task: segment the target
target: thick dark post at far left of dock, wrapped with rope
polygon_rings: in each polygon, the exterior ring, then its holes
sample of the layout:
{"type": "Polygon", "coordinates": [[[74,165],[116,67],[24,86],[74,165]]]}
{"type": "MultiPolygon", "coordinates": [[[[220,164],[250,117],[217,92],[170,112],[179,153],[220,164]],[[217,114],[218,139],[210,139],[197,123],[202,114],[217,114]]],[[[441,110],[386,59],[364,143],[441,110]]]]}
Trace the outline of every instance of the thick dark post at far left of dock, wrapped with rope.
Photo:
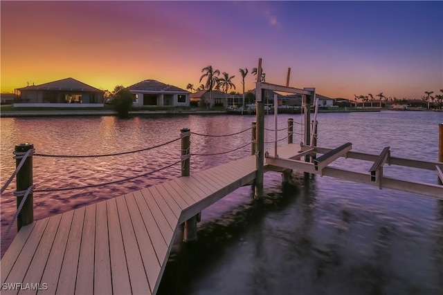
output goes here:
{"type": "MultiPolygon", "coordinates": [[[[15,153],[26,153],[28,150],[34,149],[33,144],[19,144],[15,146],[15,153]]],[[[23,156],[16,156],[15,158],[15,166],[19,166],[21,159],[23,156]]],[[[17,173],[16,177],[17,183],[17,191],[26,191],[31,185],[33,185],[33,156],[29,155],[26,158],[23,166],[17,173]]],[[[24,196],[17,196],[17,208],[23,200],[24,196]]],[[[28,198],[24,202],[23,207],[17,216],[17,231],[24,227],[25,225],[29,225],[34,222],[34,200],[33,200],[33,192],[31,191],[28,194],[28,198]]]]}

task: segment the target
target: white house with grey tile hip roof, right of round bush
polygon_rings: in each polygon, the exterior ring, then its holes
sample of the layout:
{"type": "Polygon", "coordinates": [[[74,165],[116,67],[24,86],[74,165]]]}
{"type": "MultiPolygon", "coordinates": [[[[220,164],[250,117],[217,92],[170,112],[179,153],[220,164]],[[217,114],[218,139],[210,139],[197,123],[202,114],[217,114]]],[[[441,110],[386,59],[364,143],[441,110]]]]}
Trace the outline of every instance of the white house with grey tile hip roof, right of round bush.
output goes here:
{"type": "Polygon", "coordinates": [[[189,106],[189,91],[156,80],[138,82],[126,89],[134,93],[134,106],[189,106]]]}

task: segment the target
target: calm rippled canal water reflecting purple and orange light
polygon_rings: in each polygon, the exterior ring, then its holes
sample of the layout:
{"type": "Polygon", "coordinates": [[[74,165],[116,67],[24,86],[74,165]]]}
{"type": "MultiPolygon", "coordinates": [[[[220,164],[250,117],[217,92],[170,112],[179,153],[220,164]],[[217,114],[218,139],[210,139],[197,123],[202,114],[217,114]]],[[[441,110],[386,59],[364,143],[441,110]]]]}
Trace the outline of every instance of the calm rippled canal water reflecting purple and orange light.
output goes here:
{"type": "MultiPolygon", "coordinates": [[[[287,118],[280,115],[279,128],[287,118]]],[[[100,154],[132,151],[179,137],[183,127],[226,134],[251,126],[249,116],[1,118],[1,184],[15,169],[14,145],[30,142],[37,153],[100,154]]],[[[319,146],[352,142],[354,151],[437,159],[437,112],[320,113],[319,146]]],[[[273,128],[273,117],[266,119],[273,128]]],[[[300,126],[296,126],[300,132],[300,126]]],[[[267,141],[271,141],[271,132],[267,141]]],[[[228,151],[246,144],[247,131],[233,137],[192,135],[192,153],[228,151]]],[[[284,131],[279,138],[284,137],[284,131]]],[[[294,142],[300,141],[299,135],[294,142]]],[[[285,141],[285,140],[284,140],[285,141]]],[[[283,142],[284,142],[283,141],[283,142]]],[[[271,149],[271,144],[268,148],[271,149]]],[[[78,187],[140,175],[179,160],[179,141],[161,149],[118,157],[34,157],[37,189],[78,187]]],[[[249,147],[211,157],[195,156],[200,171],[250,153],[249,147]]],[[[367,171],[371,163],[337,160],[334,166],[367,171]]],[[[97,189],[35,193],[35,218],[179,176],[175,165],[145,178],[97,189]]],[[[435,183],[433,171],[388,166],[385,175],[435,183]]],[[[280,173],[266,173],[265,194],[252,200],[242,187],[202,213],[199,241],[174,245],[159,294],[443,294],[443,204],[411,193],[379,190],[293,173],[282,187],[280,173]]],[[[15,212],[12,191],[1,196],[1,230],[15,212]]],[[[14,236],[1,245],[2,254],[14,236]]]]}

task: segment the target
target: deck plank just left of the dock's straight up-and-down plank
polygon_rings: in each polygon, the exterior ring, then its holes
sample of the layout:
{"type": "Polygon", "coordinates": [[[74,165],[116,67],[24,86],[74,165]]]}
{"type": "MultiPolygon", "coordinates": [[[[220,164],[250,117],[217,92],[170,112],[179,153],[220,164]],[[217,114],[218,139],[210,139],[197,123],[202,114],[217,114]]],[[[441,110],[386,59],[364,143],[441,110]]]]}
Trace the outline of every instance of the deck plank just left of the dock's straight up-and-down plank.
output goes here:
{"type": "Polygon", "coordinates": [[[75,294],[93,294],[94,292],[94,259],[96,242],[96,204],[86,207],[78,259],[75,294]]]}

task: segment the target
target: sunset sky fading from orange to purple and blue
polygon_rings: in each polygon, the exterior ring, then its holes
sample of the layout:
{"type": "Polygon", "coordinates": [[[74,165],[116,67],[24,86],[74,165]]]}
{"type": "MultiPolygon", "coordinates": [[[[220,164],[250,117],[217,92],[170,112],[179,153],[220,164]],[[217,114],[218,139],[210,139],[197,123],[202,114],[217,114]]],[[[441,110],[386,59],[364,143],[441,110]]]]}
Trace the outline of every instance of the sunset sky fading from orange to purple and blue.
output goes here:
{"type": "MultiPolygon", "coordinates": [[[[329,97],[443,88],[443,1],[1,1],[1,92],[73,77],[197,88],[263,59],[266,82],[329,97]]],[[[246,77],[246,90],[255,88],[246,77]]]]}

